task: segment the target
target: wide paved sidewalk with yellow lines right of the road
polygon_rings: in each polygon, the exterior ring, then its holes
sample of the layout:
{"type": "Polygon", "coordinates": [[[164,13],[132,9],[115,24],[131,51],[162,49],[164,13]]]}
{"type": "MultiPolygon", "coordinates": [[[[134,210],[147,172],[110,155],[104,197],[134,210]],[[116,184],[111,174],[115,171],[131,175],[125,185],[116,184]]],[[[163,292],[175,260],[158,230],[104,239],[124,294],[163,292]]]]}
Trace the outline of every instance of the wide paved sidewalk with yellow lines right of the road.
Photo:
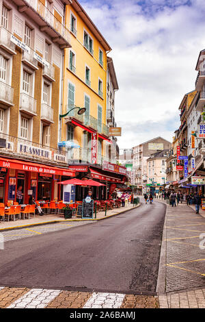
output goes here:
{"type": "Polygon", "coordinates": [[[167,205],[156,289],[160,308],[205,308],[204,262],[204,212],[196,214],[186,203],[167,205]]]}

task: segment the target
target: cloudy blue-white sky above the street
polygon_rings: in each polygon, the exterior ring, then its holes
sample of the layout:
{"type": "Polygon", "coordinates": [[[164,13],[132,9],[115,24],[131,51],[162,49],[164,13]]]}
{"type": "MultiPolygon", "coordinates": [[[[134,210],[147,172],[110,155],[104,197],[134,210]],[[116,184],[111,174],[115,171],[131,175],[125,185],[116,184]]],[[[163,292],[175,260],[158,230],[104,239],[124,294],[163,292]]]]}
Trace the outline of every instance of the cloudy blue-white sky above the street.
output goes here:
{"type": "Polygon", "coordinates": [[[80,0],[112,48],[120,90],[115,119],[120,149],[156,136],[172,142],[178,107],[195,89],[205,48],[204,0],[80,0]]]}

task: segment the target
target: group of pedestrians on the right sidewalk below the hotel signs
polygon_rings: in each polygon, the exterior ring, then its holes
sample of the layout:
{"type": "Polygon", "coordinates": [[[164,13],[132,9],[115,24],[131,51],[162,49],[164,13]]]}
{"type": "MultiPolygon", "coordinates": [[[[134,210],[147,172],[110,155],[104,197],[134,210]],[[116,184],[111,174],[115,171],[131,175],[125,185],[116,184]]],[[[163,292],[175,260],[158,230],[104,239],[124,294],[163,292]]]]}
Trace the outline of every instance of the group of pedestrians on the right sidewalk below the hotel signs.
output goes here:
{"type": "Polygon", "coordinates": [[[187,195],[182,195],[181,193],[176,193],[174,190],[172,190],[172,193],[169,195],[169,201],[172,207],[176,207],[176,202],[177,204],[182,203],[183,200],[187,201],[187,206],[188,205],[195,205],[195,211],[198,214],[200,211],[200,205],[202,203],[202,197],[198,193],[188,193],[187,195]]]}

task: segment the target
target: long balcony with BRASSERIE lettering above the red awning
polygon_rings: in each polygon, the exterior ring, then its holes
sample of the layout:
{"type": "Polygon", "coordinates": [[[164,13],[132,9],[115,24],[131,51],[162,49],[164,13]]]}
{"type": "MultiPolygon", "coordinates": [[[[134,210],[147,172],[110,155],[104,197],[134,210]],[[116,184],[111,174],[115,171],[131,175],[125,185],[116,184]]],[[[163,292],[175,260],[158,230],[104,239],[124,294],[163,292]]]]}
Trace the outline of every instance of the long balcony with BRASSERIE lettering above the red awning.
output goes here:
{"type": "Polygon", "coordinates": [[[5,155],[7,158],[11,156],[37,162],[44,161],[46,164],[67,164],[66,151],[3,133],[0,133],[1,138],[6,141],[6,147],[1,148],[1,155],[5,155]]]}

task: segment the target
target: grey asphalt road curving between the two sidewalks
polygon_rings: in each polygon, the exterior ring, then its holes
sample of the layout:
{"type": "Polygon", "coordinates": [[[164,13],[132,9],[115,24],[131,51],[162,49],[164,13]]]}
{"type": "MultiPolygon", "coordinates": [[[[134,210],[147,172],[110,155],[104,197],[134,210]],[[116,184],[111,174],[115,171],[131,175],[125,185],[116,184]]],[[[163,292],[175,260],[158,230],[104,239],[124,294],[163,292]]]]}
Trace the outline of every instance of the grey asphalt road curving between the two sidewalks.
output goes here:
{"type": "Polygon", "coordinates": [[[0,286],[156,291],[165,205],[144,203],[110,219],[5,243],[0,286]]]}

